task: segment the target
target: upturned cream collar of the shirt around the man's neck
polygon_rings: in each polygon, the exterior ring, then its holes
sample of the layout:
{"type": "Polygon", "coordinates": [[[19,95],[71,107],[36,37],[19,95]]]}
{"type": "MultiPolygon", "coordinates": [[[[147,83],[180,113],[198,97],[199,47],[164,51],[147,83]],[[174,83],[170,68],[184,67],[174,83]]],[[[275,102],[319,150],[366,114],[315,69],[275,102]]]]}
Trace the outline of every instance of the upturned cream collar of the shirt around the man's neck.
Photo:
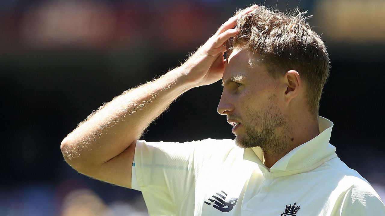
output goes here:
{"type": "Polygon", "coordinates": [[[323,162],[337,157],[335,147],[329,144],[333,122],[318,116],[320,134],[297,146],[278,160],[270,169],[264,164],[263,152],[259,147],[246,148],[243,159],[257,163],[261,171],[270,173],[295,174],[320,166],[323,162]]]}

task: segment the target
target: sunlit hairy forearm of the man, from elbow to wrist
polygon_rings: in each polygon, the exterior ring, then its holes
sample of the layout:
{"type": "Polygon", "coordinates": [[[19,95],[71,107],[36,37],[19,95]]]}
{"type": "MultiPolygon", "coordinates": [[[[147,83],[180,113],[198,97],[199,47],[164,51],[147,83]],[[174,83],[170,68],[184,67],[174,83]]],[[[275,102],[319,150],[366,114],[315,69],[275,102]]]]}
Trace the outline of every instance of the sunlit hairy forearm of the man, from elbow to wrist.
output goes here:
{"type": "Polygon", "coordinates": [[[104,163],[126,150],[173,100],[193,87],[181,70],[124,92],[80,123],[61,144],[67,163],[104,163]]]}

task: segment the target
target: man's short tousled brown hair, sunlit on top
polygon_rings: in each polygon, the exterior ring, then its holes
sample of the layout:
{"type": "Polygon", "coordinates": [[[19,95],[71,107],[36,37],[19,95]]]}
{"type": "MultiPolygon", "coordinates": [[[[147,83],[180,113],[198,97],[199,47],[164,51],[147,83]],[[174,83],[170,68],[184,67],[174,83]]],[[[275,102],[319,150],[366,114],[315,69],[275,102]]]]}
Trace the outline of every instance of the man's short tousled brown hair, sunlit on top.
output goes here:
{"type": "Polygon", "coordinates": [[[227,45],[229,49],[241,46],[259,55],[274,78],[296,70],[304,80],[310,111],[318,114],[330,61],[320,36],[305,22],[309,18],[304,17],[305,13],[297,9],[296,15],[287,15],[258,7],[239,18],[239,34],[227,45]]]}

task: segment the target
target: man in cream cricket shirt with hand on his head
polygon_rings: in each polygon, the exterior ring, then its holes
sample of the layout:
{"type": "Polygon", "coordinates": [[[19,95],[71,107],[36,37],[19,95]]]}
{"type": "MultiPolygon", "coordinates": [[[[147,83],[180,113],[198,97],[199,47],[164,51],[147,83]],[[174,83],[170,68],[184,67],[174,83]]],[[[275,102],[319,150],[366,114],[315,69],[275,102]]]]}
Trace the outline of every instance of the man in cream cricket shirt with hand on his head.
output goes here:
{"type": "Polygon", "coordinates": [[[333,123],[318,116],[328,73],[328,53],[303,13],[254,5],[182,66],[100,107],[61,149],[80,173],[141,190],[150,215],[385,215],[328,143],[333,123]],[[221,78],[218,113],[234,140],[139,141],[179,95],[221,78]]]}

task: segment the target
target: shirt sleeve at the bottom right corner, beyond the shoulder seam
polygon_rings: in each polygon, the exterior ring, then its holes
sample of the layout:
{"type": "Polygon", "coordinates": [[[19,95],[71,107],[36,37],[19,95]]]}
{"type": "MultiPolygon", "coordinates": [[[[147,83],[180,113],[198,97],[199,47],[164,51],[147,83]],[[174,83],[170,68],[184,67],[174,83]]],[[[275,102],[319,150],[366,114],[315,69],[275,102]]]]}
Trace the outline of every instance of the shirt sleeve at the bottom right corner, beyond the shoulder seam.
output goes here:
{"type": "Polygon", "coordinates": [[[352,186],[343,199],[340,216],[385,215],[385,206],[370,184],[352,186]]]}

